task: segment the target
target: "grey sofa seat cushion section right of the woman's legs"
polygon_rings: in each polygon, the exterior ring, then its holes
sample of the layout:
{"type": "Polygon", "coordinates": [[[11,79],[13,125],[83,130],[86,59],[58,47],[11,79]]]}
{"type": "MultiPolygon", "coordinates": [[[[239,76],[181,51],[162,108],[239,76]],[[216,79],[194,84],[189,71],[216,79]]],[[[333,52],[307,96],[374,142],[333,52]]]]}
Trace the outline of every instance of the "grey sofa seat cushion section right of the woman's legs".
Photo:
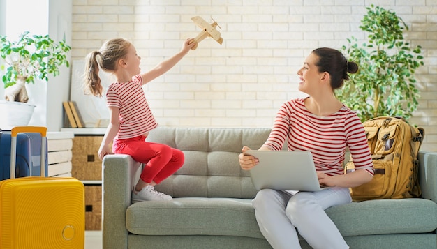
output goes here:
{"type": "Polygon", "coordinates": [[[326,210],[343,236],[408,234],[437,229],[437,204],[429,199],[376,199],[326,210]]]}

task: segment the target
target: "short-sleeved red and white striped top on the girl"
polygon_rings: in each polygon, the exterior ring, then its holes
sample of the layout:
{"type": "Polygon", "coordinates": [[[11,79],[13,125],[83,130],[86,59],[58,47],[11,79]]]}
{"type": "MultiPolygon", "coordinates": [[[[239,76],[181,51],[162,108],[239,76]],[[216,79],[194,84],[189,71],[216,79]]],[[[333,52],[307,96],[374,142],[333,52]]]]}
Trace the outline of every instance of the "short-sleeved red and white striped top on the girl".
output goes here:
{"type": "Polygon", "coordinates": [[[106,104],[119,108],[120,128],[116,139],[137,137],[158,126],[141,86],[142,76],[136,75],[130,82],[116,82],[108,87],[106,104]]]}

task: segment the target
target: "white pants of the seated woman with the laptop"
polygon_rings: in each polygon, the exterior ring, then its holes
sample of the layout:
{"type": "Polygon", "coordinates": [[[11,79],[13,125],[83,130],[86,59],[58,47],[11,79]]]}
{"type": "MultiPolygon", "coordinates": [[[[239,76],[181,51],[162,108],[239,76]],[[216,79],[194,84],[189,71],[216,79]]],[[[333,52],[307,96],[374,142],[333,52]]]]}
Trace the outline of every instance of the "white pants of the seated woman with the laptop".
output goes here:
{"type": "Polygon", "coordinates": [[[252,204],[262,235],[274,249],[301,248],[296,229],[312,248],[341,249],[349,246],[325,209],[351,201],[348,188],[333,187],[295,195],[264,189],[252,204]]]}

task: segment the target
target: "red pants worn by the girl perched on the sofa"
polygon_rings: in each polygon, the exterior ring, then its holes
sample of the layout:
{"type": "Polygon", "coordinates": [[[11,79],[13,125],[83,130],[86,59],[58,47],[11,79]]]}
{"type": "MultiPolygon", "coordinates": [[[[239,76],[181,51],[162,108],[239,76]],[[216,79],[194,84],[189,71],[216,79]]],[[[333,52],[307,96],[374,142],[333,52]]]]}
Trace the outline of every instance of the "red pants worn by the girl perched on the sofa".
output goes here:
{"type": "Polygon", "coordinates": [[[161,183],[184,164],[184,153],[165,144],[145,141],[145,136],[129,139],[114,139],[112,151],[130,155],[133,160],[144,163],[140,178],[146,183],[161,183]]]}

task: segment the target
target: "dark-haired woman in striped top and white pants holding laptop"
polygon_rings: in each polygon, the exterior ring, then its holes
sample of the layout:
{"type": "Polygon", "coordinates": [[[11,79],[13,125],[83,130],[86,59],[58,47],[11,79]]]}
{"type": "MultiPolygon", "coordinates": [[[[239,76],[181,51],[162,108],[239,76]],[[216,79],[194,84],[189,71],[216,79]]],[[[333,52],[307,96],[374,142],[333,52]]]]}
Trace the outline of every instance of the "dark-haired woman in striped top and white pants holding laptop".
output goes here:
{"type": "MultiPolygon", "coordinates": [[[[311,151],[322,186],[318,192],[260,190],[253,207],[262,234],[273,248],[301,248],[297,231],[312,248],[348,248],[339,229],[327,216],[330,206],[351,202],[349,187],[371,181],[373,163],[357,114],[335,97],[348,73],[358,66],[338,50],[313,50],[297,72],[299,91],[309,97],[286,102],[279,110],[269,138],[260,150],[279,151],[287,141],[289,150],[311,151]],[[343,174],[346,147],[355,172],[343,174]]],[[[244,146],[242,151],[249,148],[244,146]]],[[[257,158],[239,155],[239,165],[249,170],[257,158]]]]}

